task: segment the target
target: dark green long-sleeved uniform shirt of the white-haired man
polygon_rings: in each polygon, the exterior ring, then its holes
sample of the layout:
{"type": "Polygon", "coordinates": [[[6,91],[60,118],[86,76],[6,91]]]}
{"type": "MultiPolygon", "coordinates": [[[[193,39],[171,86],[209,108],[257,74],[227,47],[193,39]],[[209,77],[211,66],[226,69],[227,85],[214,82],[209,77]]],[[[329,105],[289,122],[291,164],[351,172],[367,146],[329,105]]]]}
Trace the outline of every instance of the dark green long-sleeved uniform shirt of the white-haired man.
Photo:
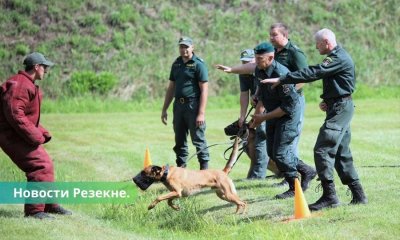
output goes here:
{"type": "Polygon", "coordinates": [[[282,84],[313,82],[322,78],[321,98],[330,99],[349,95],[355,89],[355,67],[350,55],[336,46],[321,64],[288,73],[279,78],[282,84]]]}

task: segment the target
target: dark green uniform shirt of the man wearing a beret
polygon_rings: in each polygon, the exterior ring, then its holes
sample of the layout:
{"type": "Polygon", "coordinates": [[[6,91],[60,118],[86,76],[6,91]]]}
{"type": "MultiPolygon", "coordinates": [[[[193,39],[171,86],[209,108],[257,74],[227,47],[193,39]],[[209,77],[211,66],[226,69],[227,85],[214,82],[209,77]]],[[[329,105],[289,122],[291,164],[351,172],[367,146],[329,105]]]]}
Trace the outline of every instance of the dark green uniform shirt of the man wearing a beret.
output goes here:
{"type": "MultiPolygon", "coordinates": [[[[273,61],[271,66],[266,70],[256,67],[255,76],[259,81],[266,78],[276,78],[287,74],[289,70],[278,63],[273,61]]],[[[272,84],[259,84],[259,99],[262,101],[267,112],[273,111],[280,107],[288,116],[292,116],[293,111],[299,102],[299,95],[293,84],[279,85],[272,89],[272,84]]]]}

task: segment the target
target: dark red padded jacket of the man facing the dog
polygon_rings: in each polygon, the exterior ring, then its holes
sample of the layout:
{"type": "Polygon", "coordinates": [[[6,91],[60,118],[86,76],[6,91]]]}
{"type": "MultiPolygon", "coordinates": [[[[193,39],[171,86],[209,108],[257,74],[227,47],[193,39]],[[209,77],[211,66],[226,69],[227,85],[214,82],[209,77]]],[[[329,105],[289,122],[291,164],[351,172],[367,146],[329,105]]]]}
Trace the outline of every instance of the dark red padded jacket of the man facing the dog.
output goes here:
{"type": "Polygon", "coordinates": [[[42,92],[26,72],[9,78],[0,92],[0,130],[9,142],[22,138],[37,146],[49,140],[49,132],[39,124],[42,92]]]}

